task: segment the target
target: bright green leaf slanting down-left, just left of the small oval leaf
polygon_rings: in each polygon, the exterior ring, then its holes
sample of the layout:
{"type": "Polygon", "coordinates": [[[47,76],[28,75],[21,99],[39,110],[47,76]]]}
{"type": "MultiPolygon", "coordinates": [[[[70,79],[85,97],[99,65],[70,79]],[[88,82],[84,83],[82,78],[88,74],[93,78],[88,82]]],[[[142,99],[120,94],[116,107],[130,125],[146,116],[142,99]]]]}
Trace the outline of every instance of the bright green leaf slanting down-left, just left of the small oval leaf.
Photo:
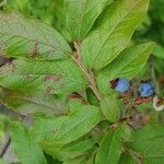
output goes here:
{"type": "Polygon", "coordinates": [[[101,120],[103,116],[98,107],[83,106],[71,113],[63,121],[54,137],[54,143],[69,143],[86,134],[101,120]]]}

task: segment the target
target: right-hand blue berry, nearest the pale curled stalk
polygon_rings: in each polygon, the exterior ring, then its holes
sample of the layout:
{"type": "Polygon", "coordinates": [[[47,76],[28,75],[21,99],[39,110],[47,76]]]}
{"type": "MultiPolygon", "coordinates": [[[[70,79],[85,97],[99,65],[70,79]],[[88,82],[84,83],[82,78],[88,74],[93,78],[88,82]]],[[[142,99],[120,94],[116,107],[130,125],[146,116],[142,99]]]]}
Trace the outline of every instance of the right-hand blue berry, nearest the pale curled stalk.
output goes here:
{"type": "Polygon", "coordinates": [[[139,92],[140,97],[150,97],[154,94],[154,86],[150,82],[141,82],[139,92]]]}

